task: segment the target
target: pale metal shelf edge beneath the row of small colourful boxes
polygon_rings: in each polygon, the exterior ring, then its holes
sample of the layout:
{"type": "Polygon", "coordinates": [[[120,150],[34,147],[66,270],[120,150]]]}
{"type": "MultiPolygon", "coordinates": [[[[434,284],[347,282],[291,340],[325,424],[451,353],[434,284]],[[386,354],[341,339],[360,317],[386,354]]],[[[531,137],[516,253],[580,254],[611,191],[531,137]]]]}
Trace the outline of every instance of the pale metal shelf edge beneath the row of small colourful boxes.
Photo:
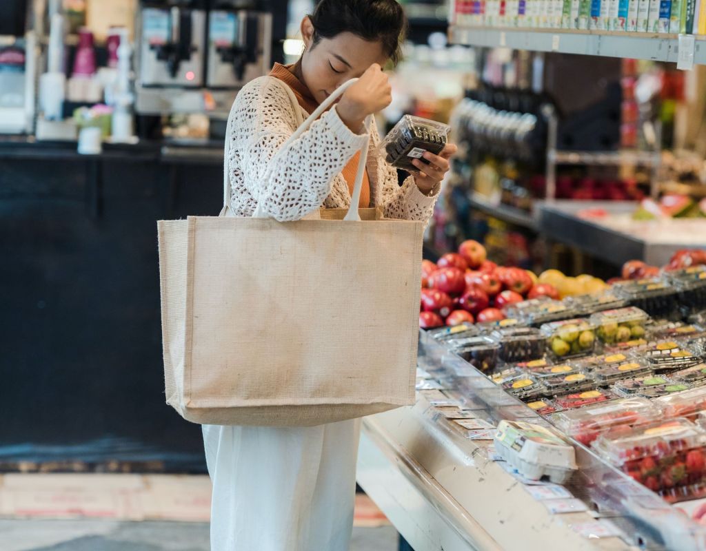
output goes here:
{"type": "MultiPolygon", "coordinates": [[[[465,28],[452,25],[450,42],[467,46],[558,52],[588,56],[678,60],[678,36],[647,32],[596,32],[566,29],[465,28]]],[[[706,37],[696,37],[694,63],[706,63],[706,37]]]]}

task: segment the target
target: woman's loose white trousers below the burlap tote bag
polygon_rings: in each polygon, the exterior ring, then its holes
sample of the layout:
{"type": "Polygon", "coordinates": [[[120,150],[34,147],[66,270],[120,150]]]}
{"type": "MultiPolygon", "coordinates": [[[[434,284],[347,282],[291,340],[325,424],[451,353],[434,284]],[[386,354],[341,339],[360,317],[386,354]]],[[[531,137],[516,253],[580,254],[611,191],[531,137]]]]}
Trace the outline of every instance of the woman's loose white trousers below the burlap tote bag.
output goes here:
{"type": "Polygon", "coordinates": [[[347,551],[359,437],[359,420],[203,425],[211,551],[347,551]]]}

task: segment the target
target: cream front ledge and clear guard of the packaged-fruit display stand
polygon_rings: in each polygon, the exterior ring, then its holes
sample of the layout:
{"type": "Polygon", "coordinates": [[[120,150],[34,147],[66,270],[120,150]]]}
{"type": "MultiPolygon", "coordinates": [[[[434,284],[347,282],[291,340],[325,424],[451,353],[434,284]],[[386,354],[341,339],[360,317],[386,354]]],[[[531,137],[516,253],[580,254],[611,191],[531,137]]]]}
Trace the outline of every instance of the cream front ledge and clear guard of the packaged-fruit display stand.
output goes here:
{"type": "MultiPolygon", "coordinates": [[[[425,332],[419,351],[421,369],[459,389],[491,423],[546,424],[425,332]]],[[[587,507],[553,514],[551,503],[576,500],[537,497],[550,487],[515,478],[496,461],[493,442],[457,430],[430,392],[364,418],[358,458],[359,485],[416,551],[706,549],[706,528],[580,445],[566,490],[587,507]]]]}

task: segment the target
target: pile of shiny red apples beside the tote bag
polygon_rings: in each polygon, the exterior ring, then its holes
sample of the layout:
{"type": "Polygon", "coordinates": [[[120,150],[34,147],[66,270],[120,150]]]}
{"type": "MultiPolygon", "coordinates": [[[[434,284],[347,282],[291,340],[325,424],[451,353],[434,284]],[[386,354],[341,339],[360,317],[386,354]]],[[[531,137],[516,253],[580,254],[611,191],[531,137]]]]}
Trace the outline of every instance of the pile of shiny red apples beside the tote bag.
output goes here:
{"type": "Polygon", "coordinates": [[[538,296],[558,299],[559,292],[528,270],[487,260],[481,243],[464,241],[436,264],[422,261],[419,327],[503,320],[503,308],[538,296]]]}

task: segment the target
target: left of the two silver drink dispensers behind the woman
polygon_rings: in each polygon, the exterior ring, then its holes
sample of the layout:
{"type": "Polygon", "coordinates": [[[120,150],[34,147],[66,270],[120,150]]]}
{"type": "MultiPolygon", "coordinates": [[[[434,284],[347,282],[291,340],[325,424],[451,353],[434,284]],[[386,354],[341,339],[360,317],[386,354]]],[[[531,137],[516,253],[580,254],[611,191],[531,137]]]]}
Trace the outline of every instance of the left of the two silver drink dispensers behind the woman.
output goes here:
{"type": "Polygon", "coordinates": [[[204,110],[205,0],[145,0],[136,20],[136,111],[204,110]]]}

